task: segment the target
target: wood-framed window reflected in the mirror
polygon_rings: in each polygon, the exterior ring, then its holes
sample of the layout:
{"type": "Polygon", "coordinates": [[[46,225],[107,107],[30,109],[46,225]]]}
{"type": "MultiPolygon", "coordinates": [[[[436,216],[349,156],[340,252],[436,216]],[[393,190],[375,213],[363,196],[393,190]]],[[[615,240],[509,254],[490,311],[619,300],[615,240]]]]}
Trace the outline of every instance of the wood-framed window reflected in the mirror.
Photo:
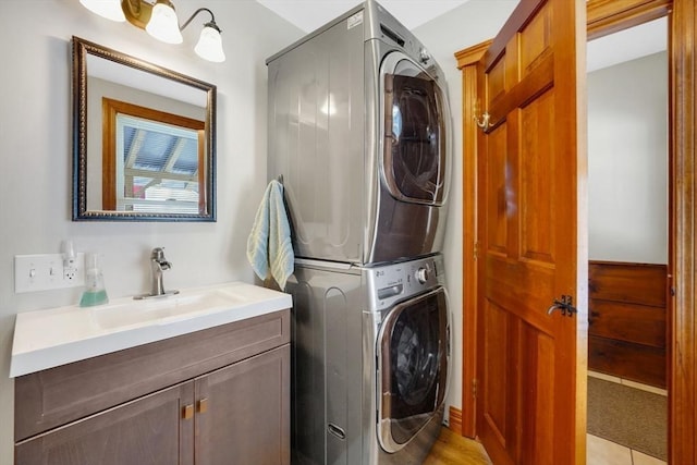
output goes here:
{"type": "Polygon", "coordinates": [[[203,213],[205,121],[109,98],[102,110],[102,208],[203,213]]]}

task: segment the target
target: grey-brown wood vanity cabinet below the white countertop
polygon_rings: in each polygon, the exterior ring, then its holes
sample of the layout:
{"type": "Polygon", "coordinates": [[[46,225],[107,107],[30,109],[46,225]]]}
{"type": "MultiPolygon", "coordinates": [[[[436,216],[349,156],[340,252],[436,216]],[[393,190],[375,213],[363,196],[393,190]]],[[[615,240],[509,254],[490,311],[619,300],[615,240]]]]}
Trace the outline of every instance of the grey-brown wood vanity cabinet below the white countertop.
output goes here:
{"type": "Polygon", "coordinates": [[[290,464],[289,330],[284,310],[20,377],[15,463],[290,464]]]}

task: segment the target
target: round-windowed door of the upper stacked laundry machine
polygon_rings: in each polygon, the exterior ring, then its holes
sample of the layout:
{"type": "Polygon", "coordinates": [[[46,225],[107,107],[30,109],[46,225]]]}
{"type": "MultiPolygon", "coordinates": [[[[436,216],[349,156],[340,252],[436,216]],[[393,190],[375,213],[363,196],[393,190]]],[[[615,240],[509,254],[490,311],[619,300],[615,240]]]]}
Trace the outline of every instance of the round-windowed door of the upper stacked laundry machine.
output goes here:
{"type": "Polygon", "coordinates": [[[448,173],[447,100],[439,84],[406,54],[382,61],[382,175],[399,200],[440,206],[448,173]]]}

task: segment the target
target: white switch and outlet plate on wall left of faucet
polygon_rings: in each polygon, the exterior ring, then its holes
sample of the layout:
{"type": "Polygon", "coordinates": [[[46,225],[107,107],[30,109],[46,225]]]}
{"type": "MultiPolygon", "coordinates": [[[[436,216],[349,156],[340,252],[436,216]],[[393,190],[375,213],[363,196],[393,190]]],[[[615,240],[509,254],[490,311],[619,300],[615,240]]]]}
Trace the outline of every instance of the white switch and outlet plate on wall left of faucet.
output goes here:
{"type": "Polygon", "coordinates": [[[85,285],[85,254],[75,254],[74,272],[63,272],[63,254],[14,256],[14,292],[50,291],[85,285]]]}

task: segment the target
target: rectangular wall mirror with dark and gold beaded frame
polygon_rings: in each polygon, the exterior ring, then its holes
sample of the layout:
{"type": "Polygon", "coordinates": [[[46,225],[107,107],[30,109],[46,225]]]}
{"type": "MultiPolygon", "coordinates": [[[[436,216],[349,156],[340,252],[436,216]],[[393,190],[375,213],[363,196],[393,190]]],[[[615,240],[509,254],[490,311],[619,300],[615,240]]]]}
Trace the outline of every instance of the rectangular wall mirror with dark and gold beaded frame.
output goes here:
{"type": "Polygon", "coordinates": [[[72,40],[73,221],[216,221],[216,86],[72,40]]]}

